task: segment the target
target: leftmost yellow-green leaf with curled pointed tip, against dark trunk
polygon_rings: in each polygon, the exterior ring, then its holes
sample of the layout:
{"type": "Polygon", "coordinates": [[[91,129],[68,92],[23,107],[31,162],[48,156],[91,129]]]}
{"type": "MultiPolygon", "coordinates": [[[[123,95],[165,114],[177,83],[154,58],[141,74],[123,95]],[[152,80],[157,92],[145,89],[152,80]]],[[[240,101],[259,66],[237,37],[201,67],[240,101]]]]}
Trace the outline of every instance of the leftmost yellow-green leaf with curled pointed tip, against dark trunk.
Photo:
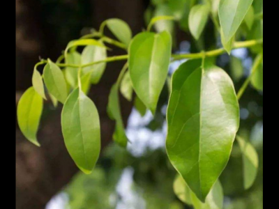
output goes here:
{"type": "Polygon", "coordinates": [[[43,98],[33,87],[28,88],[17,105],[17,122],[24,137],[36,146],[40,146],[36,135],[42,111],[43,98]]]}

